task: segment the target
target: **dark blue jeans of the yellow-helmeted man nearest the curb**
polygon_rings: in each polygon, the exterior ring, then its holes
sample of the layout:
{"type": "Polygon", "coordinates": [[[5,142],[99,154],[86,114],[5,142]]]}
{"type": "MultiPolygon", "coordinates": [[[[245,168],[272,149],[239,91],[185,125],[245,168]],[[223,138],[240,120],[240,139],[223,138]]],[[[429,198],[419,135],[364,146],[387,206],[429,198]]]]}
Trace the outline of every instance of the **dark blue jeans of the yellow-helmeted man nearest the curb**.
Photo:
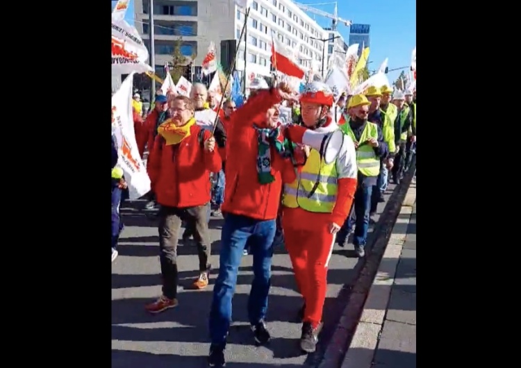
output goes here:
{"type": "Polygon", "coordinates": [[[363,183],[356,188],[349,216],[338,232],[338,244],[343,243],[354,225],[353,244],[355,246],[365,246],[367,242],[367,231],[369,230],[372,188],[372,185],[367,186],[363,183]]]}

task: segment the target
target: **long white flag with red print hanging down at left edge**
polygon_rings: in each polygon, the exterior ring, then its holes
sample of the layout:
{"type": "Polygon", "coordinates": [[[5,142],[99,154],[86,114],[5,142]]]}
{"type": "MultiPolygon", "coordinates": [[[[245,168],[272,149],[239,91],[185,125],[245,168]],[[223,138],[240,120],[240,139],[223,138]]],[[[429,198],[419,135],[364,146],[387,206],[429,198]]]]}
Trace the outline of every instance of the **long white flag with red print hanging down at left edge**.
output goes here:
{"type": "Polygon", "coordinates": [[[131,72],[112,97],[112,124],[118,151],[117,166],[123,169],[131,200],[138,199],[150,191],[150,178],[135,142],[132,116],[133,78],[134,73],[131,72]]]}

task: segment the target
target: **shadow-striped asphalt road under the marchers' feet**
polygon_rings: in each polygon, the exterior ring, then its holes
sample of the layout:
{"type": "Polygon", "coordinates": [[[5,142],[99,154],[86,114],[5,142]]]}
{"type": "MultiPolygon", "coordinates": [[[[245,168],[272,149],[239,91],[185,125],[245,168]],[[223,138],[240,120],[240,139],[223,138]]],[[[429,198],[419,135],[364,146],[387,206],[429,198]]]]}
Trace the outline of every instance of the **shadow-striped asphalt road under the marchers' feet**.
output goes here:
{"type": "MultiPolygon", "coordinates": [[[[394,187],[390,185],[386,199],[394,187]]],[[[159,296],[161,288],[156,218],[138,210],[143,204],[136,201],[124,206],[126,228],[119,243],[119,257],[112,265],[112,367],[206,367],[211,283],[217,271],[210,275],[210,286],[206,290],[180,292],[177,308],[159,315],[145,312],[144,304],[159,296]]],[[[380,203],[379,213],[385,205],[380,203]]],[[[221,226],[222,219],[210,221],[213,240],[211,263],[215,269],[218,267],[221,226]]],[[[188,286],[198,274],[195,246],[183,245],[180,241],[178,255],[181,283],[188,286]]],[[[267,316],[272,342],[267,347],[254,346],[247,323],[247,296],[253,273],[252,257],[244,256],[233,299],[233,326],[226,349],[227,367],[296,368],[304,364],[316,367],[345,307],[348,285],[353,281],[358,262],[361,261],[355,258],[352,244],[345,249],[335,246],[329,265],[329,287],[319,349],[315,354],[304,356],[297,344],[301,325],[295,323],[301,297],[295,292],[288,254],[284,249],[277,249],[273,259],[267,316]]]]}

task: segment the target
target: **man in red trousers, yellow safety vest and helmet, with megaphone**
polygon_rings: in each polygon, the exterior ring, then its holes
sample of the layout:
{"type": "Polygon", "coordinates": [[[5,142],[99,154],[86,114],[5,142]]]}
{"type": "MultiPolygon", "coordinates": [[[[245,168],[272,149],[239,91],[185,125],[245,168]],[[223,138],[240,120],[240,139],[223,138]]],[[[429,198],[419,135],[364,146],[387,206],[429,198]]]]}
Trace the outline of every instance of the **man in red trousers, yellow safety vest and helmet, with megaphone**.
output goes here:
{"type": "MultiPolygon", "coordinates": [[[[292,142],[309,144],[307,159],[295,181],[284,185],[282,226],[286,249],[304,298],[300,310],[303,321],[300,349],[313,353],[322,328],[322,309],[326,299],[327,267],[336,233],[352,206],[356,190],[356,153],[353,141],[343,139],[338,156],[326,162],[327,133],[338,131],[329,115],[333,93],[322,82],[311,82],[300,96],[303,126],[289,126],[292,142]]],[[[342,137],[342,134],[338,132],[342,137]]]]}

